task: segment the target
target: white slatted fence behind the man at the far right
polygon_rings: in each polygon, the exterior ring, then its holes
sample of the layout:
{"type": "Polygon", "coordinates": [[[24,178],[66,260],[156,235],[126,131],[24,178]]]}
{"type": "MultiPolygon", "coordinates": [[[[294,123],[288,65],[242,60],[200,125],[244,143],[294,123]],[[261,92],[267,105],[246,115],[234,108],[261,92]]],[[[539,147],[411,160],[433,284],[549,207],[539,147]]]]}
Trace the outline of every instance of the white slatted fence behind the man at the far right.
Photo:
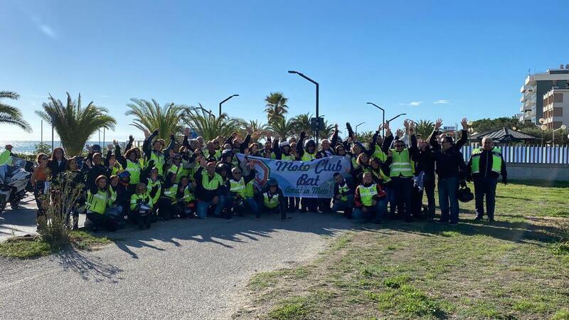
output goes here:
{"type": "MultiPolygon", "coordinates": [[[[569,146],[499,146],[504,161],[513,164],[569,164],[569,146]]],[[[463,146],[464,161],[469,161],[472,146],[463,146]]]]}

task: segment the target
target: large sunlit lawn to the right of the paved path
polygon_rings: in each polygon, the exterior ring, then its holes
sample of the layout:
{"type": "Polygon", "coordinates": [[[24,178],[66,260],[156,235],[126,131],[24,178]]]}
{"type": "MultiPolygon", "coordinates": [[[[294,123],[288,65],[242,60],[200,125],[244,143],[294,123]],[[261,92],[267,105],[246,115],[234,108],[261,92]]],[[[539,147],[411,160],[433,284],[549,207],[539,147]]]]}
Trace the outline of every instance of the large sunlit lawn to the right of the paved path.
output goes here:
{"type": "Polygon", "coordinates": [[[569,188],[499,186],[496,223],[361,225],[255,275],[235,319],[569,319],[569,188]]]}

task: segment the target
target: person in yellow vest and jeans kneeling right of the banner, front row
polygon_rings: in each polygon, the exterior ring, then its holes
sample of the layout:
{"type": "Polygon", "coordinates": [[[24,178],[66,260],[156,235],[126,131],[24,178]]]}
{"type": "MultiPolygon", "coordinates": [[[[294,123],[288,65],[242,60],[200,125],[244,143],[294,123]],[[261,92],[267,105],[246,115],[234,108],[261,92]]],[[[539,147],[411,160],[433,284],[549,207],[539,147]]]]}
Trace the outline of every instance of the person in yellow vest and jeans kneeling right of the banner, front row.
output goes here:
{"type": "Polygon", "coordinates": [[[363,174],[363,184],[356,188],[353,201],[356,203],[356,213],[363,213],[366,220],[381,223],[387,211],[386,193],[378,183],[373,183],[370,172],[363,174]]]}

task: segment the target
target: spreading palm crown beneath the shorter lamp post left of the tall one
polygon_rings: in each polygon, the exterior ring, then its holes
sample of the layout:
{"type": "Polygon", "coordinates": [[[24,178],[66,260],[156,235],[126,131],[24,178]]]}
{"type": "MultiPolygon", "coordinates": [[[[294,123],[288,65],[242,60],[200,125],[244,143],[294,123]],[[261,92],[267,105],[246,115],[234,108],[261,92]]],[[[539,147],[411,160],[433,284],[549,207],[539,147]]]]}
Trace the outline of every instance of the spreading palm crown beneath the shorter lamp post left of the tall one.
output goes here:
{"type": "Polygon", "coordinates": [[[238,132],[244,125],[243,120],[230,118],[226,113],[216,117],[201,105],[188,107],[183,121],[206,141],[216,139],[218,136],[229,137],[231,133],[238,132]]]}

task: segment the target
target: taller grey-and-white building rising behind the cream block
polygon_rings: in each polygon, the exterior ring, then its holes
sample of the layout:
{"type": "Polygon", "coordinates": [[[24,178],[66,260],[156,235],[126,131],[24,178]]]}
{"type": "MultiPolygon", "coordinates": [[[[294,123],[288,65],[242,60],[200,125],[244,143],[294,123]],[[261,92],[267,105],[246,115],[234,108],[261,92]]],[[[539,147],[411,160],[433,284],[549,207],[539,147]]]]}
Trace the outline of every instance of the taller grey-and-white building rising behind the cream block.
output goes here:
{"type": "Polygon", "coordinates": [[[565,89],[569,82],[569,65],[559,66],[559,69],[549,69],[545,73],[528,75],[521,86],[522,97],[519,115],[520,122],[539,124],[543,117],[543,96],[553,87],[565,89]]]}

